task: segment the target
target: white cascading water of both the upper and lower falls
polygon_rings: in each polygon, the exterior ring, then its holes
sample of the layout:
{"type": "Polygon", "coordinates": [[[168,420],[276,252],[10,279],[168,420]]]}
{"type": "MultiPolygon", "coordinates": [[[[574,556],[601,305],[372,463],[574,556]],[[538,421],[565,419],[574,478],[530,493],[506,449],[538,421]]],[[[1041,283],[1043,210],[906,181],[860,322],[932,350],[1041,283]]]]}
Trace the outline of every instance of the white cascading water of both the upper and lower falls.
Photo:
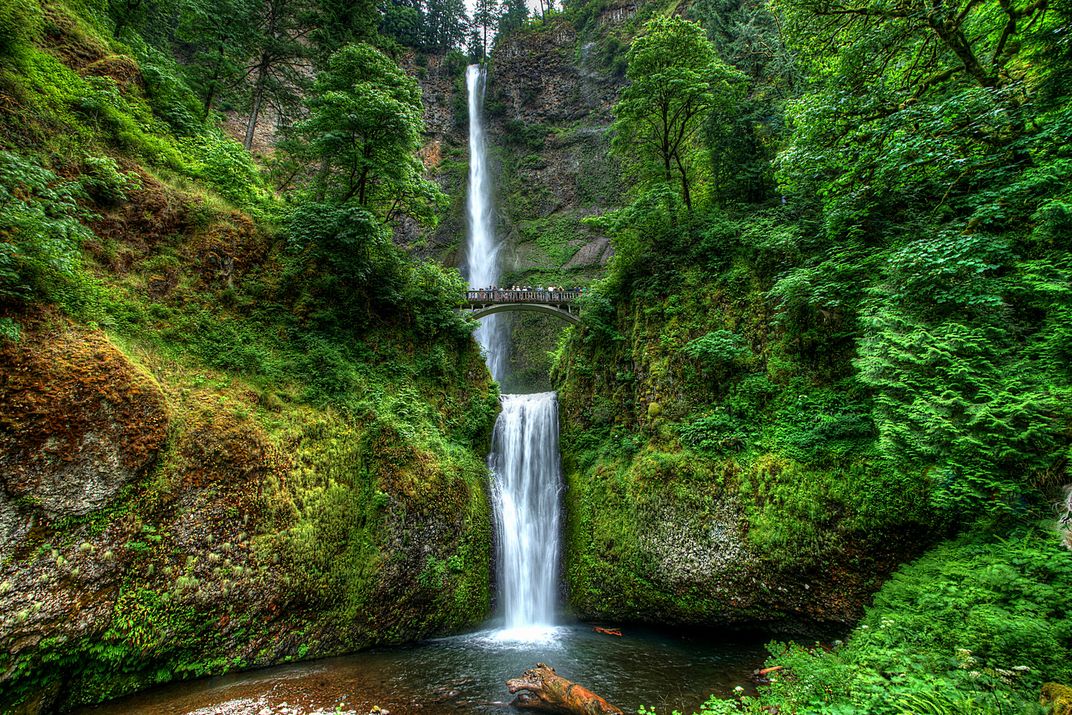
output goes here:
{"type": "MultiPolygon", "coordinates": [[[[498,282],[498,249],[483,136],[485,72],[465,72],[470,111],[468,283],[498,282]]],[[[500,383],[507,341],[497,316],[483,318],[476,339],[500,383]]],[[[488,466],[495,510],[496,571],[504,628],[500,641],[541,640],[554,623],[559,568],[559,403],[554,392],[504,394],[488,466]]]]}

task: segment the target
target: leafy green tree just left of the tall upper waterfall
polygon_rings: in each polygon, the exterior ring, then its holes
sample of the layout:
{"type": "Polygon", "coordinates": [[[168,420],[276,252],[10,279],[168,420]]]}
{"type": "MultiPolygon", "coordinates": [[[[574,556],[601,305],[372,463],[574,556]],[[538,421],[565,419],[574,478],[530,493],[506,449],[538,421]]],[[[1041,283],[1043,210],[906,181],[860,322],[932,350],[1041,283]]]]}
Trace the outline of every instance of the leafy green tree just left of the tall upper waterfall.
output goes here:
{"type": "Polygon", "coordinates": [[[432,218],[441,193],[421,178],[420,87],[386,55],[347,45],[331,56],[296,128],[302,151],[319,165],[322,199],[354,203],[388,219],[432,218]]]}

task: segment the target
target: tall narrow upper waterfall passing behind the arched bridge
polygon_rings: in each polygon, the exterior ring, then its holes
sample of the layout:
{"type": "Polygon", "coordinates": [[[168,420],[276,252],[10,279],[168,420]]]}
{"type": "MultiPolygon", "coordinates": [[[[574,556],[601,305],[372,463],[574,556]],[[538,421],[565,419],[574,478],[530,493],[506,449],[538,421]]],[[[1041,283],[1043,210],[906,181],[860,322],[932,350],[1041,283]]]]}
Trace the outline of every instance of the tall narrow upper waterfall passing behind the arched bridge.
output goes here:
{"type": "MultiPolygon", "coordinates": [[[[487,288],[498,283],[498,249],[491,215],[491,183],[488,176],[487,145],[483,138],[485,71],[479,64],[465,70],[470,113],[470,185],[468,212],[468,284],[471,288],[487,288]]],[[[497,315],[480,322],[476,341],[483,348],[491,376],[503,382],[506,366],[506,341],[497,315]]]]}

